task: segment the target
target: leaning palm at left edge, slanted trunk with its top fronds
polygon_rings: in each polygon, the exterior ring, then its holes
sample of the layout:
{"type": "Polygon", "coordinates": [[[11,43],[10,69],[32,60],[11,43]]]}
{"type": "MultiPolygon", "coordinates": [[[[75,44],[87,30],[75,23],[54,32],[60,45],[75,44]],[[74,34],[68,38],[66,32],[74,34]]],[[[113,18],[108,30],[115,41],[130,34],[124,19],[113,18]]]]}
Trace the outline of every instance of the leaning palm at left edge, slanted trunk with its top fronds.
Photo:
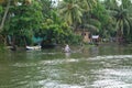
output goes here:
{"type": "Polygon", "coordinates": [[[6,23],[8,23],[9,18],[11,18],[11,15],[13,14],[13,12],[11,12],[11,8],[14,7],[16,8],[18,6],[21,4],[30,4],[31,0],[0,0],[0,4],[3,8],[3,13],[1,13],[1,19],[0,19],[0,40],[4,40],[3,42],[6,42],[6,37],[7,34],[4,34],[4,25],[6,23]]]}

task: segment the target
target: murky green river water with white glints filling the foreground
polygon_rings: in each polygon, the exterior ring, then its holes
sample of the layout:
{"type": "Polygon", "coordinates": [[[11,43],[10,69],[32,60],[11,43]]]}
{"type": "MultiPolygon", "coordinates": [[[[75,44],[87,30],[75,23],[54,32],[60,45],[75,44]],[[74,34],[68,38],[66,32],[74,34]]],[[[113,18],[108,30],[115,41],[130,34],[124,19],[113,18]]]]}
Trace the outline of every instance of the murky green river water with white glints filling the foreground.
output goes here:
{"type": "Polygon", "coordinates": [[[131,54],[118,45],[0,53],[0,88],[132,88],[131,54]]]}

